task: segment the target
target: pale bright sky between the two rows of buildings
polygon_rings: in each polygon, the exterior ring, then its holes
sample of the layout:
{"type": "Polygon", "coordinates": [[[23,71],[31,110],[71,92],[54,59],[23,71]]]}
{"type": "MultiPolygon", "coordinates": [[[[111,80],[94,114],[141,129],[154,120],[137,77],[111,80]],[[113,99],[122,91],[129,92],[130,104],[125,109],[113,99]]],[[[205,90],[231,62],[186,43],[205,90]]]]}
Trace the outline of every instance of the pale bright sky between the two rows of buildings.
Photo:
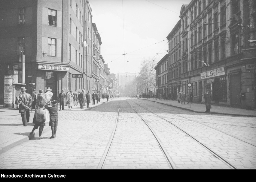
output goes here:
{"type": "Polygon", "coordinates": [[[166,37],[180,19],[181,6],[190,1],[89,0],[110,73],[138,75],[144,59],[159,62],[168,53],[166,37]]]}

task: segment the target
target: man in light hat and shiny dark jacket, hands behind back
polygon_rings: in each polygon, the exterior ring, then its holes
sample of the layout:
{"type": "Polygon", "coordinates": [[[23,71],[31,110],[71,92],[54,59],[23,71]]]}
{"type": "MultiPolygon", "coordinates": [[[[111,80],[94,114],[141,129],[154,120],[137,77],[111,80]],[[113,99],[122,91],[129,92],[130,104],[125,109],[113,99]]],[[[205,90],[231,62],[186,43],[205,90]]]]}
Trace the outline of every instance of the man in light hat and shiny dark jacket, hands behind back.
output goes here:
{"type": "Polygon", "coordinates": [[[19,113],[21,113],[23,126],[27,126],[29,123],[29,108],[32,105],[32,97],[30,94],[25,92],[25,87],[21,87],[20,91],[21,94],[19,95],[19,113]]]}

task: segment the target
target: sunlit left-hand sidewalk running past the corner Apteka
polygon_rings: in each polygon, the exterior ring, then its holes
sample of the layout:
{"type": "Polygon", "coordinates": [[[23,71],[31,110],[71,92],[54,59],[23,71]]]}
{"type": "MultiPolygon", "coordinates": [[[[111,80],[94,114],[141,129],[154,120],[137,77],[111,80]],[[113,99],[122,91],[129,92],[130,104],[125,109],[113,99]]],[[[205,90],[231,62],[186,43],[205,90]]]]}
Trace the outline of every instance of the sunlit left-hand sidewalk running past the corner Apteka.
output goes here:
{"type": "MultiPolygon", "coordinates": [[[[108,102],[111,100],[112,99],[108,99],[108,102]]],[[[68,110],[68,106],[64,106],[65,111],[58,111],[58,113],[90,110],[91,108],[97,107],[105,102],[107,102],[107,99],[100,99],[98,104],[95,102],[95,105],[92,105],[91,101],[89,108],[85,105],[84,109],[80,109],[80,105],[73,106],[71,110],[68,110]]],[[[16,109],[16,105],[15,108],[4,108],[3,105],[0,105],[0,155],[20,143],[39,137],[39,128],[34,131],[34,134],[29,135],[29,132],[31,132],[34,127],[34,124],[32,123],[34,113],[35,110],[32,110],[28,125],[23,126],[19,109],[16,109]]],[[[50,129],[49,123],[46,123],[44,126],[44,132],[50,129]]]]}

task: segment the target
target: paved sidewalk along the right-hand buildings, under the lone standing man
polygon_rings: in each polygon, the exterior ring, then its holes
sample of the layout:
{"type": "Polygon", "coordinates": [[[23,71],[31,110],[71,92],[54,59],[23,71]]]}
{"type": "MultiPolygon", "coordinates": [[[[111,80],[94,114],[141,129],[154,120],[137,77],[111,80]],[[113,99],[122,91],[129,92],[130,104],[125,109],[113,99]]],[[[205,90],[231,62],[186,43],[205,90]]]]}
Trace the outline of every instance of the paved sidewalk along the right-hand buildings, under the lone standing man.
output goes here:
{"type": "MultiPolygon", "coordinates": [[[[154,98],[138,98],[143,100],[150,100],[152,102],[162,103],[165,105],[171,105],[173,107],[181,108],[184,110],[190,110],[197,113],[205,113],[206,111],[205,104],[201,103],[193,103],[187,104],[185,102],[184,104],[178,103],[177,100],[155,100],[154,98]]],[[[241,109],[241,108],[232,108],[232,107],[225,107],[225,106],[219,106],[219,105],[212,105],[212,108],[210,110],[210,114],[225,114],[225,115],[231,115],[231,116],[246,116],[246,117],[256,117],[256,110],[247,110],[247,109],[241,109]]]]}

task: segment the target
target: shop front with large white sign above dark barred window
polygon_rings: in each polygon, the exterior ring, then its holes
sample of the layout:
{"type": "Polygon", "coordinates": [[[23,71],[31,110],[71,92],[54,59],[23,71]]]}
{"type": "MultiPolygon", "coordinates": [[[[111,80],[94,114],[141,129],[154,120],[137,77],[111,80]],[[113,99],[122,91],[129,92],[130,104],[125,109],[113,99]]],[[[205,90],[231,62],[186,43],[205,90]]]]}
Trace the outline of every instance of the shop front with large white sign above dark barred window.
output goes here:
{"type": "Polygon", "coordinates": [[[215,104],[227,104],[227,79],[224,67],[201,73],[201,79],[202,95],[209,90],[215,104]]]}

